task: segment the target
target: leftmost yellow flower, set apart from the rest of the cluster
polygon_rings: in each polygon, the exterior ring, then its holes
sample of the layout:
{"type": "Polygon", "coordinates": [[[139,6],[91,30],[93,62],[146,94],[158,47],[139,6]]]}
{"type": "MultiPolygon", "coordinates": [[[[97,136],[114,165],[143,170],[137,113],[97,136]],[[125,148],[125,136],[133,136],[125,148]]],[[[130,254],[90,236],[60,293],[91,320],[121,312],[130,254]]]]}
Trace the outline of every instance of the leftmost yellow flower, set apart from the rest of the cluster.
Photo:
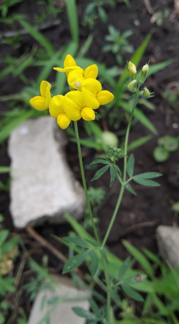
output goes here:
{"type": "Polygon", "coordinates": [[[49,108],[50,101],[52,99],[51,84],[47,81],[42,81],[40,86],[41,96],[36,96],[30,99],[30,104],[37,110],[46,110],[49,108]]]}

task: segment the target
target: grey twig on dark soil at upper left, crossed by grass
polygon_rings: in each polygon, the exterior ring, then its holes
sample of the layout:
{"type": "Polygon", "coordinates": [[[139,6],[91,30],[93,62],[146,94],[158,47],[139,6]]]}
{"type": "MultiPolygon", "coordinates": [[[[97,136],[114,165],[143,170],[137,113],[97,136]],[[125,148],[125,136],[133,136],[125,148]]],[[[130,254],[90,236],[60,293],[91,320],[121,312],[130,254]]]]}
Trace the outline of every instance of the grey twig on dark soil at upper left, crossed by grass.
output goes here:
{"type": "MultiPolygon", "coordinates": [[[[43,29],[48,29],[48,28],[54,27],[54,26],[58,26],[60,24],[61,24],[61,20],[60,19],[55,19],[53,21],[47,21],[47,22],[42,23],[39,26],[33,26],[33,27],[36,30],[43,30],[43,29]]],[[[0,39],[3,38],[3,37],[5,37],[5,38],[13,37],[16,34],[26,35],[26,34],[29,34],[29,32],[26,29],[8,30],[8,31],[5,31],[3,33],[0,33],[0,39]]]]}

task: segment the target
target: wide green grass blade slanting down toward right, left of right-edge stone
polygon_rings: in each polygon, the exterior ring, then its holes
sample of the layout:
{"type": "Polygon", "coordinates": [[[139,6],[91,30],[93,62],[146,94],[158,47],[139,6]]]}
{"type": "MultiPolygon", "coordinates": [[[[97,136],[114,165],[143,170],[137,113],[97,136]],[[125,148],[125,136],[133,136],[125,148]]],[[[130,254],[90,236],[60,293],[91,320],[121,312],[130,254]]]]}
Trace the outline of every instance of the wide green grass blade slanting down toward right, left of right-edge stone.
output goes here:
{"type": "Polygon", "coordinates": [[[141,267],[145,270],[145,272],[153,278],[154,271],[153,268],[149,262],[149,260],[139,251],[137,250],[133,245],[131,245],[129,242],[122,240],[122,243],[124,244],[127,251],[132,254],[132,256],[137,260],[137,262],[141,265],[141,267]]]}

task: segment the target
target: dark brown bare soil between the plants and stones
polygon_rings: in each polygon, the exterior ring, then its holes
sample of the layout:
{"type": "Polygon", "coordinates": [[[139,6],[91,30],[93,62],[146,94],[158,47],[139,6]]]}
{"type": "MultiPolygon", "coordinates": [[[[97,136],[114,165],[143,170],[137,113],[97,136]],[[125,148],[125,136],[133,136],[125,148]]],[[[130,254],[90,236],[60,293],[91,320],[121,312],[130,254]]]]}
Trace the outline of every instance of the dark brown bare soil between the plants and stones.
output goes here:
{"type": "MultiPolygon", "coordinates": [[[[164,70],[156,73],[150,77],[146,86],[151,91],[155,91],[155,97],[151,98],[151,102],[156,105],[156,110],[149,110],[144,107],[145,114],[150,118],[150,121],[157,128],[159,135],[179,135],[179,107],[175,109],[170,108],[168,101],[163,99],[162,94],[168,84],[171,82],[179,82],[177,71],[179,71],[179,61],[177,59],[179,52],[179,19],[176,16],[173,8],[173,1],[165,0],[151,0],[151,7],[154,12],[163,10],[165,7],[169,8],[170,15],[165,19],[162,26],[157,26],[150,22],[151,14],[148,12],[143,0],[131,1],[131,7],[127,8],[124,3],[116,2],[115,7],[105,6],[108,12],[109,24],[113,24],[116,29],[124,32],[127,29],[132,29],[134,34],[129,38],[130,43],[135,49],[145,39],[149,31],[153,30],[153,35],[149,41],[149,45],[142,58],[140,66],[146,64],[150,60],[151,64],[159,63],[167,59],[175,58],[174,62],[166,67],[164,70]],[[136,26],[137,25],[137,26],[136,26]],[[174,73],[175,74],[174,74],[174,73]],[[178,123],[178,125],[177,125],[178,123]],[[177,127],[177,128],[176,128],[177,127]]],[[[86,6],[86,1],[78,1],[79,20],[82,20],[83,11],[86,6]]],[[[26,14],[29,22],[33,22],[33,17],[40,14],[42,5],[38,5],[35,0],[24,0],[15,7],[11,7],[9,15],[15,11],[16,13],[26,14]]],[[[59,26],[49,28],[43,31],[43,34],[52,41],[55,49],[59,49],[64,43],[70,41],[70,31],[67,22],[66,12],[58,14],[61,19],[59,26]]],[[[3,31],[8,30],[7,25],[1,23],[3,31]]],[[[15,28],[19,28],[18,24],[15,28]]],[[[89,28],[80,25],[80,44],[82,44],[89,35],[89,28]]],[[[94,41],[86,55],[86,57],[96,60],[99,63],[104,63],[108,68],[116,65],[115,56],[111,52],[101,52],[101,47],[104,45],[104,36],[108,34],[107,24],[104,25],[100,19],[97,19],[96,25],[93,29],[94,41]]],[[[30,36],[24,36],[21,41],[21,46],[17,50],[13,50],[10,46],[1,44],[1,56],[5,57],[7,54],[18,57],[24,52],[27,52],[33,45],[34,40],[30,36]]],[[[129,55],[125,55],[125,60],[129,59],[129,55]]],[[[35,67],[28,68],[25,75],[29,79],[36,79],[40,69],[35,67]]],[[[54,73],[50,75],[49,82],[54,81],[54,73]]],[[[18,93],[24,84],[17,77],[12,78],[6,76],[0,81],[0,95],[7,95],[18,93]]],[[[108,87],[110,90],[110,87],[108,87]]],[[[0,103],[0,111],[5,111],[9,107],[5,103],[0,103]]],[[[121,108],[119,109],[119,113],[121,108]]],[[[106,119],[106,122],[108,120],[106,119]]],[[[84,137],[82,123],[80,124],[80,136],[84,137]]],[[[121,123],[121,129],[125,128],[125,123],[121,123]]],[[[110,128],[113,131],[112,128],[110,128]]],[[[141,136],[148,135],[150,132],[141,123],[137,124],[131,129],[129,136],[129,143],[141,136]]],[[[123,142],[124,137],[120,138],[123,142]]],[[[135,149],[133,152],[135,156],[135,174],[157,171],[163,174],[163,177],[158,179],[161,184],[157,188],[149,188],[136,183],[132,183],[133,189],[137,192],[137,196],[125,191],[122,199],[121,208],[117,214],[115,224],[108,239],[108,246],[115,255],[121,259],[128,256],[121,239],[125,238],[137,248],[146,247],[147,249],[158,253],[155,231],[158,225],[176,225],[178,224],[178,214],[171,210],[174,202],[179,201],[179,180],[176,174],[179,169],[179,150],[173,152],[168,161],[164,163],[157,163],[153,158],[153,150],[157,144],[157,137],[154,136],[149,142],[141,147],[135,149]]],[[[0,165],[8,166],[10,159],[6,151],[7,141],[0,146],[0,165]]],[[[67,159],[70,167],[74,170],[76,178],[81,181],[77,147],[74,143],[69,142],[66,148],[67,159]]],[[[94,158],[96,152],[92,149],[83,149],[84,165],[88,165],[94,158]]],[[[122,169],[122,160],[119,161],[119,167],[122,169]]],[[[91,179],[94,176],[96,169],[85,169],[88,186],[91,186],[91,179]]],[[[8,179],[8,174],[0,175],[1,181],[4,183],[8,179]]],[[[109,191],[110,175],[105,173],[100,179],[94,181],[92,185],[97,188],[101,186],[107,192],[109,191]]],[[[103,204],[99,210],[100,232],[101,237],[104,237],[106,229],[109,225],[113,209],[115,207],[119,194],[119,186],[114,183],[113,196],[103,204]],[[115,187],[116,186],[116,187],[115,187]]],[[[51,255],[46,249],[43,249],[39,243],[35,242],[25,230],[17,231],[14,229],[11,216],[9,214],[9,195],[5,191],[0,191],[0,213],[5,217],[3,222],[4,228],[9,228],[10,232],[18,232],[21,234],[23,242],[27,249],[32,249],[32,256],[35,260],[41,263],[42,256],[47,254],[49,256],[49,267],[52,271],[60,273],[63,264],[51,255]]],[[[63,237],[66,236],[70,230],[68,224],[64,225],[49,225],[37,227],[37,232],[51,242],[55,247],[66,253],[67,250],[59,242],[52,238],[51,234],[63,237]]],[[[17,262],[18,266],[18,262],[17,262]]],[[[15,269],[16,272],[16,269],[15,269]]],[[[23,298],[21,298],[23,300],[23,298]]],[[[23,303],[22,303],[23,306],[23,303]]],[[[29,310],[26,309],[28,314],[29,310]]]]}

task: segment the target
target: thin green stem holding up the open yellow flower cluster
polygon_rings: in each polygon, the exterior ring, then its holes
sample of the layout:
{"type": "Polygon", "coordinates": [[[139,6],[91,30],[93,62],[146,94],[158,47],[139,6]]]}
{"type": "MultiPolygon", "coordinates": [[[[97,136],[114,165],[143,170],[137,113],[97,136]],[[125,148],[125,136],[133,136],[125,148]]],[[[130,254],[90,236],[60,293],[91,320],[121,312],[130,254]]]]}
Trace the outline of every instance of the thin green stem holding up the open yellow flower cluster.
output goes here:
{"type": "Polygon", "coordinates": [[[76,138],[77,138],[77,146],[78,146],[79,164],[80,164],[80,169],[81,169],[81,177],[82,177],[83,187],[84,187],[84,191],[85,191],[85,195],[86,195],[87,206],[88,206],[88,210],[89,210],[91,223],[92,223],[92,226],[93,226],[94,235],[96,237],[96,240],[97,240],[98,244],[100,245],[100,239],[99,239],[98,232],[97,232],[97,229],[96,229],[96,226],[95,226],[95,223],[94,223],[93,214],[92,214],[92,210],[91,210],[91,205],[90,205],[89,197],[88,197],[88,190],[87,190],[87,186],[86,186],[85,174],[84,174],[84,169],[83,169],[83,161],[82,161],[82,155],[81,155],[81,146],[80,146],[80,141],[79,141],[77,121],[74,121],[74,125],[75,125],[75,134],[76,134],[76,138]]]}

